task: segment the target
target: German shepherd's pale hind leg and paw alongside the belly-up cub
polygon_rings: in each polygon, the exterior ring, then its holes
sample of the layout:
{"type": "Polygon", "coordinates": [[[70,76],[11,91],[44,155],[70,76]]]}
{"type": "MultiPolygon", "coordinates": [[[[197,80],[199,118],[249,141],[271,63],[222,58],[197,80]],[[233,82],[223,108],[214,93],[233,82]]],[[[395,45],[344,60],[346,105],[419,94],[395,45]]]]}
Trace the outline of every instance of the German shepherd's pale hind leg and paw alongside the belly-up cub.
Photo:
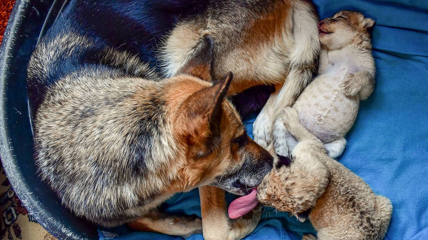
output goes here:
{"type": "MultiPolygon", "coordinates": [[[[273,123],[279,117],[279,111],[285,106],[292,106],[303,89],[312,81],[321,44],[318,37],[318,18],[314,6],[306,1],[290,1],[293,5],[293,40],[294,46],[289,56],[289,69],[284,85],[271,95],[266,105],[253,124],[256,143],[273,149],[273,123]],[[267,108],[267,109],[265,109],[267,108]],[[267,115],[269,114],[269,115],[267,115]],[[266,116],[265,116],[266,115],[266,116]]],[[[273,153],[270,151],[270,153],[273,153]]]]}

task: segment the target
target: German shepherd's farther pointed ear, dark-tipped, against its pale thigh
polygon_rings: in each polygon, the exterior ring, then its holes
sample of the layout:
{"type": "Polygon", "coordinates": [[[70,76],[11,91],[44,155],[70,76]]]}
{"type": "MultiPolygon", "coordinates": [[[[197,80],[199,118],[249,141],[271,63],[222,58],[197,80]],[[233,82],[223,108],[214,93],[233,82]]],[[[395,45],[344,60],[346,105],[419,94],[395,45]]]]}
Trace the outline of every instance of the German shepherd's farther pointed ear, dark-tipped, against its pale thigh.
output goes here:
{"type": "Polygon", "coordinates": [[[213,64],[213,41],[209,35],[205,35],[199,46],[196,47],[190,59],[179,70],[178,74],[189,74],[190,76],[199,77],[205,81],[212,79],[213,64]]]}

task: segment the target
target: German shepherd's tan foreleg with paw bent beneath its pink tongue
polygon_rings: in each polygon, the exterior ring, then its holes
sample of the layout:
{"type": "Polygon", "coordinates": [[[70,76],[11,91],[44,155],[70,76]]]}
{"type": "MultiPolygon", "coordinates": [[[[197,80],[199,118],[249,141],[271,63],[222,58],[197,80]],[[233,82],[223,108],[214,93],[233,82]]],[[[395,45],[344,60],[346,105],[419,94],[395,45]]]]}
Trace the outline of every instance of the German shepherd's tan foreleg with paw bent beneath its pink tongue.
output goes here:
{"type": "Polygon", "coordinates": [[[262,216],[262,210],[256,207],[256,210],[231,220],[227,216],[224,190],[217,187],[199,187],[199,196],[205,240],[242,239],[256,229],[262,216]]]}

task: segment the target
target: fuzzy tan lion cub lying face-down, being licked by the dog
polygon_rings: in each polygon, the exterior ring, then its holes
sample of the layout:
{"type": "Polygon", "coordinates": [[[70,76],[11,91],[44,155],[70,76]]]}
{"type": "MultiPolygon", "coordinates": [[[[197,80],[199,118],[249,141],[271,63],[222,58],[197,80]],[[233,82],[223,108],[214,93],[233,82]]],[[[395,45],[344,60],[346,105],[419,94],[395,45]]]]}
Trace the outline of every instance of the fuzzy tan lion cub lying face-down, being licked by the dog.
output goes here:
{"type": "Polygon", "coordinates": [[[278,162],[260,184],[259,201],[301,221],[309,214],[319,240],[383,239],[392,213],[389,199],[373,193],[363,179],[330,158],[295,109],[286,108],[282,117],[299,143],[291,160],[278,162]]]}

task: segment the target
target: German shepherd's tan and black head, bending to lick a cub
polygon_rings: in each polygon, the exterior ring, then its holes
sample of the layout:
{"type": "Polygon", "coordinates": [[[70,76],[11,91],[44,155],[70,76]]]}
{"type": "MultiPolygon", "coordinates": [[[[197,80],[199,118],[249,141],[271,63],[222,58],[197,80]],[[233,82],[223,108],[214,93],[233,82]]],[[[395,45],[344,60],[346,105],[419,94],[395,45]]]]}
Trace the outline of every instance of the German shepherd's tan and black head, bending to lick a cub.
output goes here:
{"type": "Polygon", "coordinates": [[[232,78],[229,73],[213,85],[189,75],[173,78],[175,96],[182,98],[175,110],[175,135],[185,158],[178,188],[211,184],[244,195],[273,167],[272,156],[248,136],[226,99],[232,78]]]}

